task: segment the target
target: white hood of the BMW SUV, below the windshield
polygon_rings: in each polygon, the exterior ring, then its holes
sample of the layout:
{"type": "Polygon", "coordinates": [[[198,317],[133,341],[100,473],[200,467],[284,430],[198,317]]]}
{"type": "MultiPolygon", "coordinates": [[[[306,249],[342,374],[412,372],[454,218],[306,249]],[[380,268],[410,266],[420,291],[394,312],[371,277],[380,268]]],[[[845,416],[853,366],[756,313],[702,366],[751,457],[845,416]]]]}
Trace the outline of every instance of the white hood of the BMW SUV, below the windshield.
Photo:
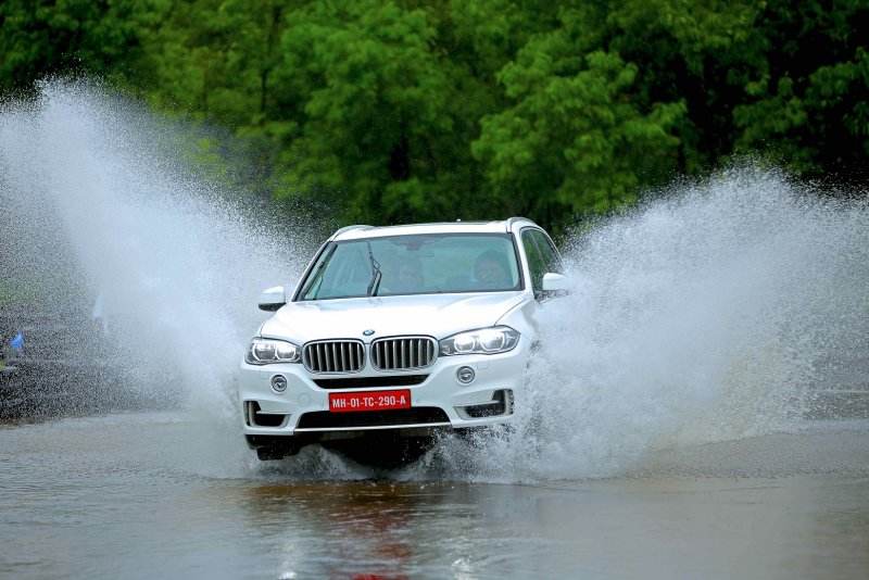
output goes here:
{"type": "Polygon", "coordinates": [[[263,324],[260,335],[299,344],[339,338],[368,342],[399,335],[442,339],[493,326],[525,300],[530,299],[522,292],[488,292],[290,302],[263,324]],[[366,338],[365,330],[374,335],[366,338]]]}

